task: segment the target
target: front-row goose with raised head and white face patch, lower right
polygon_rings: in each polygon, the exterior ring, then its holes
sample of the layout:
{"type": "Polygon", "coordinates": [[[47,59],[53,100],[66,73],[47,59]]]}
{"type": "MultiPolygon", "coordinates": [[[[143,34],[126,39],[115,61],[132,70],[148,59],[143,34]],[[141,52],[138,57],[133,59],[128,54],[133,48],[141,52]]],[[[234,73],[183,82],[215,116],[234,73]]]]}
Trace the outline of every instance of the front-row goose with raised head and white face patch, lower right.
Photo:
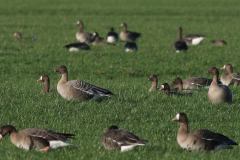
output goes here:
{"type": "Polygon", "coordinates": [[[201,129],[189,132],[188,119],[185,113],[178,113],[172,121],[181,123],[177,134],[177,142],[180,147],[187,151],[219,151],[221,149],[232,149],[231,145],[238,145],[230,138],[209,130],[201,129]]]}

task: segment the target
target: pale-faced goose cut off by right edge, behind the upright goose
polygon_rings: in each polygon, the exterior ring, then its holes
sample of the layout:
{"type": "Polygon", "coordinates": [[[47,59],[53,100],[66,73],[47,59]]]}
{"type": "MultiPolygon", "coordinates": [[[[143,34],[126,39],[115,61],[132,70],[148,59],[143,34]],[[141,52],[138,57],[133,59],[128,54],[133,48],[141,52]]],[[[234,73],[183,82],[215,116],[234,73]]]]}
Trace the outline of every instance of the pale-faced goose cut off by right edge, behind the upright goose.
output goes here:
{"type": "Polygon", "coordinates": [[[231,64],[224,65],[221,69],[226,69],[227,72],[221,76],[221,82],[224,85],[240,85],[240,73],[233,73],[233,67],[231,64]]]}

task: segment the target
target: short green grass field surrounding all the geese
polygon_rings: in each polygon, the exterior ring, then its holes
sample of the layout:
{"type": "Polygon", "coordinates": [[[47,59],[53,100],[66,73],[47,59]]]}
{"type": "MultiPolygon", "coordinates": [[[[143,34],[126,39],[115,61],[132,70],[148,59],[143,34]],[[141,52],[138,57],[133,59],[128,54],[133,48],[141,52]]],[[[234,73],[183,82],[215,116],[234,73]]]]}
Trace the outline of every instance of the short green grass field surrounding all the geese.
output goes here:
{"type": "MultiPolygon", "coordinates": [[[[190,130],[209,129],[240,142],[240,88],[232,87],[232,104],[211,104],[207,90],[192,97],[165,97],[148,92],[147,81],[156,74],[159,86],[175,77],[212,78],[210,67],[231,63],[240,72],[239,0],[173,1],[0,1],[0,126],[11,124],[25,128],[52,129],[76,134],[69,140],[76,147],[48,153],[26,152],[15,147],[9,136],[0,141],[0,159],[239,159],[240,150],[216,153],[186,152],[179,147],[176,135],[179,123],[171,119],[185,112],[190,130]],[[138,52],[125,53],[119,46],[91,46],[90,51],[69,52],[63,46],[76,42],[79,29],[105,37],[110,27],[126,22],[128,29],[142,33],[138,52]],[[198,33],[206,40],[189,51],[175,53],[172,46],[183,35],[198,33]],[[36,40],[16,40],[21,32],[36,40]],[[216,47],[211,40],[225,39],[227,46],[216,47]],[[83,80],[109,89],[115,95],[100,101],[67,101],[59,94],[41,94],[41,75],[51,79],[56,90],[61,75],[53,70],[66,65],[69,80],[83,80]],[[133,151],[120,153],[105,150],[100,138],[112,125],[134,132],[149,143],[133,151]]],[[[220,74],[225,71],[220,71],[220,74]]]]}

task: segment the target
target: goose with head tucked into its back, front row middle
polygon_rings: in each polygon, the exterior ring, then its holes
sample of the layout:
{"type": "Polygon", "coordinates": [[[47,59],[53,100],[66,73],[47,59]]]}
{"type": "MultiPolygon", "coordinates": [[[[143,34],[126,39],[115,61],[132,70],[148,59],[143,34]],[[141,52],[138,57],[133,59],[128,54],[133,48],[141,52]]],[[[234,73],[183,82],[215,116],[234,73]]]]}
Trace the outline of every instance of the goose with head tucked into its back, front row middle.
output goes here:
{"type": "Polygon", "coordinates": [[[108,131],[102,135],[101,141],[107,150],[120,150],[121,152],[131,150],[135,146],[145,146],[148,142],[115,125],[108,128],[108,131]]]}

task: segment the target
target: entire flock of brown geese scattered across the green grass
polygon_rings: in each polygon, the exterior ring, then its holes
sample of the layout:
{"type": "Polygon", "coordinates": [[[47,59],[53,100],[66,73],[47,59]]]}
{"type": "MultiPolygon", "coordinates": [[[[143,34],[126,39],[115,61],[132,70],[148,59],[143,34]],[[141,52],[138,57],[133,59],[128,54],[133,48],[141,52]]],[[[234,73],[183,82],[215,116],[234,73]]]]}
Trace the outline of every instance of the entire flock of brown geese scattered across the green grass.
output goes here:
{"type": "MultiPolygon", "coordinates": [[[[83,32],[83,22],[78,21],[76,23],[80,26],[76,33],[78,43],[66,45],[70,51],[76,51],[79,49],[89,50],[88,43],[92,45],[112,45],[112,43],[118,41],[118,34],[111,28],[107,33],[107,42],[101,42],[102,37],[97,32],[91,34],[83,32]]],[[[123,31],[119,37],[122,41],[127,41],[125,45],[125,51],[137,50],[137,45],[134,42],[141,34],[127,30],[127,24],[122,23],[123,31]]],[[[18,39],[35,39],[36,37],[23,38],[20,32],[16,32],[14,36],[18,39]]],[[[173,49],[176,52],[181,50],[187,50],[188,45],[197,45],[205,39],[204,36],[198,34],[190,34],[184,39],[182,38],[182,28],[179,28],[179,39],[175,41],[173,49]]],[[[227,44],[223,40],[214,41],[216,45],[227,44]]],[[[227,72],[221,76],[218,80],[219,71],[216,67],[211,67],[207,73],[213,75],[213,79],[207,79],[202,77],[190,77],[182,81],[177,77],[173,80],[173,84],[162,84],[161,88],[158,86],[158,78],[156,75],[151,75],[148,79],[152,81],[152,86],[149,91],[163,90],[166,95],[191,95],[194,88],[209,86],[208,100],[212,103],[231,103],[232,93],[227,85],[240,85],[240,73],[233,73],[231,64],[226,64],[221,69],[226,69],[227,72]],[[222,84],[220,84],[222,83],[222,84]],[[171,89],[172,88],[172,89],[171,89]],[[184,94],[181,94],[183,92],[184,94]],[[186,93],[190,92],[190,93],[186,93]]],[[[89,84],[79,80],[68,80],[68,70],[64,65],[59,66],[54,72],[58,72],[62,75],[57,84],[57,92],[67,100],[97,100],[99,97],[106,96],[111,97],[113,93],[107,89],[101,88],[96,85],[89,84]]],[[[50,91],[50,79],[47,75],[43,75],[37,81],[44,82],[43,93],[49,93],[50,91]]],[[[54,91],[52,91],[54,92],[54,91]]],[[[231,149],[231,145],[238,145],[230,138],[214,133],[209,130],[196,130],[189,132],[188,119],[185,113],[178,113],[172,121],[180,122],[180,128],[177,134],[177,142],[185,150],[191,151],[218,151],[220,149],[231,149]]],[[[37,151],[47,152],[49,149],[55,149],[58,147],[70,146],[67,142],[68,138],[74,138],[74,134],[59,133],[52,130],[42,130],[37,128],[28,128],[22,131],[17,131],[12,125],[6,125],[0,128],[0,140],[9,134],[11,142],[18,148],[29,150],[36,149],[37,151]]],[[[102,145],[108,150],[119,150],[121,152],[133,149],[135,146],[144,146],[148,142],[145,139],[138,137],[130,131],[119,129],[118,126],[112,125],[108,128],[107,132],[102,135],[102,145]]]]}

